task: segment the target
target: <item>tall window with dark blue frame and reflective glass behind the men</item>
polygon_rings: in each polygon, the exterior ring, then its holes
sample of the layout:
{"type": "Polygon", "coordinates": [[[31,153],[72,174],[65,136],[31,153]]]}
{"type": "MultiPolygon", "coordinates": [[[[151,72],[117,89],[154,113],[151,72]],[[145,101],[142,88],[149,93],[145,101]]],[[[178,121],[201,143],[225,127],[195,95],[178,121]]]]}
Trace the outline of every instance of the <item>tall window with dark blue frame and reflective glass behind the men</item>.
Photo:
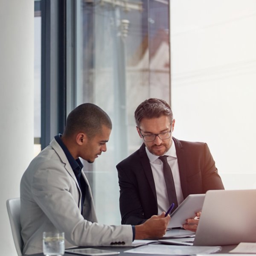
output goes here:
{"type": "Polygon", "coordinates": [[[170,101],[169,1],[41,0],[41,148],[91,102],[113,122],[108,151],[84,162],[100,223],[120,224],[116,164],[137,150],[134,111],[170,101]]]}

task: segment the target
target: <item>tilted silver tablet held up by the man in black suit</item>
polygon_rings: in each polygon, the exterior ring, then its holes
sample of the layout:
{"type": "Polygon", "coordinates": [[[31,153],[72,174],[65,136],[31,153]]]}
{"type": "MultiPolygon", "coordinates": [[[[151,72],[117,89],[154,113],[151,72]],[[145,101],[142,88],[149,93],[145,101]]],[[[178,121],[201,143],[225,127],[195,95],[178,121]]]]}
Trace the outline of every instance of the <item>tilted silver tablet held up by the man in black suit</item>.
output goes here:
{"type": "Polygon", "coordinates": [[[168,228],[182,227],[186,223],[186,219],[194,218],[196,212],[202,210],[205,194],[192,194],[175,209],[171,214],[171,221],[168,228]]]}

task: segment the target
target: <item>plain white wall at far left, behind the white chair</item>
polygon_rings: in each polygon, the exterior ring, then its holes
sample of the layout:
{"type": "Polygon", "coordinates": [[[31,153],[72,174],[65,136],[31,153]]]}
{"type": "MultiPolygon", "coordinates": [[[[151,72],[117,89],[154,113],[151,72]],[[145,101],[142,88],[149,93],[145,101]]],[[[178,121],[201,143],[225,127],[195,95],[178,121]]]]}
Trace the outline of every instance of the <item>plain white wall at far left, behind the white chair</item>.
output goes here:
{"type": "Polygon", "coordinates": [[[0,248],[17,255],[6,200],[33,157],[34,1],[0,1],[0,248]]]}

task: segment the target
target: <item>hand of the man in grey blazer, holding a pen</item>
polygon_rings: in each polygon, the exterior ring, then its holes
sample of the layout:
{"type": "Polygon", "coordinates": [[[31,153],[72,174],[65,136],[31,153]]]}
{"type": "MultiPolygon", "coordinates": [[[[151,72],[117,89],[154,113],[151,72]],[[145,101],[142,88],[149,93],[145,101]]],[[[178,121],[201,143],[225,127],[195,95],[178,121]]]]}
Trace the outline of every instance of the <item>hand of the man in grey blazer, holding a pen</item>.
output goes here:
{"type": "Polygon", "coordinates": [[[165,212],[161,215],[153,215],[143,224],[135,226],[135,239],[154,239],[165,235],[170,222],[170,215],[165,217],[165,212]]]}

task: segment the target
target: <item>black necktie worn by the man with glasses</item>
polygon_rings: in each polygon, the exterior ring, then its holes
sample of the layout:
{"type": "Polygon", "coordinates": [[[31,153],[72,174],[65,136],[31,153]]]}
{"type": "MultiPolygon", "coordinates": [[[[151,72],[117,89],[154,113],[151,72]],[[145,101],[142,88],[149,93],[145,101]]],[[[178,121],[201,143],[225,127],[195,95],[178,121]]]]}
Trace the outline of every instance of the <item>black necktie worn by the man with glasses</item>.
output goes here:
{"type": "MultiPolygon", "coordinates": [[[[169,199],[169,205],[174,203],[174,208],[178,207],[177,195],[175,191],[175,184],[172,176],[172,170],[167,162],[167,156],[158,157],[163,162],[163,176],[166,182],[167,195],[169,199]]],[[[166,209],[167,211],[167,209],[166,209]]]]}

